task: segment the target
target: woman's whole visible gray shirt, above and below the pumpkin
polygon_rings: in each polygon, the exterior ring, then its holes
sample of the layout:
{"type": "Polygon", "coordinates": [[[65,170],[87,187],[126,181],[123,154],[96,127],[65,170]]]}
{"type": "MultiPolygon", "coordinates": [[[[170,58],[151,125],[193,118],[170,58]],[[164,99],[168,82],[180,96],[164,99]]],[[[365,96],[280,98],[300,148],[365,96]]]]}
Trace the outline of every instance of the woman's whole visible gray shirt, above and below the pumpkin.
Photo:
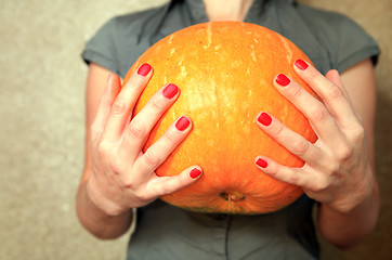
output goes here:
{"type": "MultiPolygon", "coordinates": [[[[184,27],[208,22],[201,0],[170,3],[107,22],[87,43],[82,57],[125,77],[152,44],[184,27]]],[[[245,22],[290,39],[323,73],[343,72],[379,49],[348,17],[290,0],[254,0],[245,22]]],[[[312,221],[313,200],[305,195],[269,214],[202,214],[160,200],[138,210],[128,259],[318,259],[312,221]]]]}

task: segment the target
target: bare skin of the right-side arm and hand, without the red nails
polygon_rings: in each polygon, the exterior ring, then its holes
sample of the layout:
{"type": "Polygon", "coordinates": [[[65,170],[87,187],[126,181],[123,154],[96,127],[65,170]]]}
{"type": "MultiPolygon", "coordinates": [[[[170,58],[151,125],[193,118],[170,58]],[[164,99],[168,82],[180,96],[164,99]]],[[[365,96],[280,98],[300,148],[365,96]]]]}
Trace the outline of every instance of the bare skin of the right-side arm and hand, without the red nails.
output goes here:
{"type": "Polygon", "coordinates": [[[302,168],[285,167],[267,157],[263,172],[299,185],[321,203],[317,224],[323,236],[341,248],[355,245],[374,229],[379,211],[379,191],[374,166],[374,114],[376,84],[370,60],[340,77],[330,70],[324,77],[314,67],[296,73],[322,98],[311,96],[290,80],[276,89],[310,120],[318,140],[312,144],[283,126],[258,126],[305,161],[302,168]],[[344,86],[344,87],[343,87],[344,86]],[[355,96],[356,99],[352,99],[355,96]]]}

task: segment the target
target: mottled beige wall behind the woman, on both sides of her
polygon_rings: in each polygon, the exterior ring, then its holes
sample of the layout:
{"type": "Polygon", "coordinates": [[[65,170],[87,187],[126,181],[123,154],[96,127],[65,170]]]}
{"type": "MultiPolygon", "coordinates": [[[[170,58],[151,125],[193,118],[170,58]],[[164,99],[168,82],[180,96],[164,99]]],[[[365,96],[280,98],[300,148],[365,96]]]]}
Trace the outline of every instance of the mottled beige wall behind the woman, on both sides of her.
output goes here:
{"type": "MultiPolygon", "coordinates": [[[[121,259],[127,237],[100,242],[75,214],[83,158],[79,54],[107,18],[165,0],[2,0],[0,10],[0,259],[121,259]]],[[[392,46],[390,0],[306,0],[355,18],[380,43],[377,169],[382,210],[376,231],[325,259],[387,259],[392,219],[392,46]]]]}

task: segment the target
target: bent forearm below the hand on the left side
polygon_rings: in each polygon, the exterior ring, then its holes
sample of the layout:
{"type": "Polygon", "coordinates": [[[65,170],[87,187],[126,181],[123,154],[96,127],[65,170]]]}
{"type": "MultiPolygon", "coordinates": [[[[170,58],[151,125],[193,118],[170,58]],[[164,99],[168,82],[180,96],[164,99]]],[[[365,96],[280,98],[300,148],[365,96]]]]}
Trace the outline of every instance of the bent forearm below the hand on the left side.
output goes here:
{"type": "Polygon", "coordinates": [[[119,216],[108,216],[97,208],[89,197],[86,182],[77,194],[77,213],[80,223],[101,239],[114,239],[125,234],[132,222],[132,210],[119,216]]]}

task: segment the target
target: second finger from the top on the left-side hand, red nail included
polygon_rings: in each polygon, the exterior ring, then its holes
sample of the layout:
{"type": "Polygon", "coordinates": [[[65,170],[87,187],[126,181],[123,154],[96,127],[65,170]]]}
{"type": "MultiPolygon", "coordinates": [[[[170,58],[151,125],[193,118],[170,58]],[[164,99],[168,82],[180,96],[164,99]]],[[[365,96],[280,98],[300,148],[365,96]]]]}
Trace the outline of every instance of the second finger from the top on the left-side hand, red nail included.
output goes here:
{"type": "Polygon", "coordinates": [[[156,92],[128,126],[122,147],[127,159],[135,159],[145,144],[149,132],[180,95],[175,84],[167,84],[156,92]]]}

